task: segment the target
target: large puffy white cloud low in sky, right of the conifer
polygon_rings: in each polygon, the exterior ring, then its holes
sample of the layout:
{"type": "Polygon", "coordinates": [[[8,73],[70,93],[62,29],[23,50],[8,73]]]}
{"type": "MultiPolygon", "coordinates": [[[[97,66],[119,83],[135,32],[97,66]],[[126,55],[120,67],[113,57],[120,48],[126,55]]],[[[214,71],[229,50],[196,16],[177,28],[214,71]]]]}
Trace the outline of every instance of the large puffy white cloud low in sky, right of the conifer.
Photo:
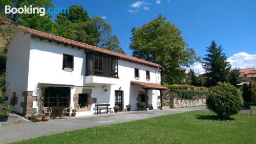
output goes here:
{"type": "Polygon", "coordinates": [[[256,68],[256,54],[248,54],[239,52],[230,56],[227,61],[232,65],[232,68],[256,68]]]}

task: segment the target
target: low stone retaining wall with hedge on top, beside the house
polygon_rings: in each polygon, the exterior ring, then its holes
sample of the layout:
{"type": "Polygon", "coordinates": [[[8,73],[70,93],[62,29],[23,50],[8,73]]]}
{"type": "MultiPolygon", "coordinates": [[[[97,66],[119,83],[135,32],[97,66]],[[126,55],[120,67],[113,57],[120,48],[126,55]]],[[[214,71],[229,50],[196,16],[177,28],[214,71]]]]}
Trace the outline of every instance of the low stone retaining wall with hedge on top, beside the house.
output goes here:
{"type": "Polygon", "coordinates": [[[170,108],[193,107],[206,105],[206,99],[177,99],[169,98],[170,108]]]}

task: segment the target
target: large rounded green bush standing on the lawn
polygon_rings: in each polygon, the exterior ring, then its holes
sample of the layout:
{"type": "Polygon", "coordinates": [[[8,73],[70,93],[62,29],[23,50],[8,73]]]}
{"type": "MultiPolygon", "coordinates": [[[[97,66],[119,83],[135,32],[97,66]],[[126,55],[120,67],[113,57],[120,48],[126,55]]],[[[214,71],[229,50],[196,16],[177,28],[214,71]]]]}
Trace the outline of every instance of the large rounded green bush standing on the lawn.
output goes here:
{"type": "Polygon", "coordinates": [[[241,94],[230,83],[218,82],[211,88],[206,99],[207,107],[217,113],[221,119],[237,114],[243,107],[241,94]]]}

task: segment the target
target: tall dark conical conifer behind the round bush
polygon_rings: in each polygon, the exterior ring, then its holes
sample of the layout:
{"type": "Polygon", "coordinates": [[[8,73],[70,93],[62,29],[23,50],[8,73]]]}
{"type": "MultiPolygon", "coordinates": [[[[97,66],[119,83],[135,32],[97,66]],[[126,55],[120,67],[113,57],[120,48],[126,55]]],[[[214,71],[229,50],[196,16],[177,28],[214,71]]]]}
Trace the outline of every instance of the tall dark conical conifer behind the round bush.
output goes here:
{"type": "Polygon", "coordinates": [[[203,68],[207,74],[207,85],[215,86],[218,81],[228,82],[231,66],[227,62],[226,54],[222,53],[222,45],[218,46],[215,41],[212,41],[206,51],[208,53],[203,58],[203,68]]]}

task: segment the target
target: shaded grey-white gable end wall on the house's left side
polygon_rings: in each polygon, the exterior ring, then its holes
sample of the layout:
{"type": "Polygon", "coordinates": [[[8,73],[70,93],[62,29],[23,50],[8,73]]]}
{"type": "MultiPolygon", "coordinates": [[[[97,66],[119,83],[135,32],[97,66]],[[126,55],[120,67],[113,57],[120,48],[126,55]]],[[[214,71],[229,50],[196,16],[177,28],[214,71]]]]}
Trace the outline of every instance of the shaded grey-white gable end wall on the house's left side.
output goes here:
{"type": "Polygon", "coordinates": [[[7,103],[10,103],[13,92],[16,92],[17,105],[10,107],[13,111],[20,113],[23,110],[20,102],[24,101],[22,93],[28,88],[29,48],[30,37],[19,30],[16,31],[7,47],[6,82],[9,96],[7,103]]]}

